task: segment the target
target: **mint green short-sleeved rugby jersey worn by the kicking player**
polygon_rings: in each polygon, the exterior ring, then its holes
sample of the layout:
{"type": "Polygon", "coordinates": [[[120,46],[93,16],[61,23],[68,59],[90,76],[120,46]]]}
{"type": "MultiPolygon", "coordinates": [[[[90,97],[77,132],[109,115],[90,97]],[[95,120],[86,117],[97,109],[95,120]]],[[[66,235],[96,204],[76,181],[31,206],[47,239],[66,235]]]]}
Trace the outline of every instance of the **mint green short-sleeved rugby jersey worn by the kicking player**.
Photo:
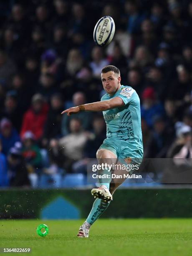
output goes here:
{"type": "Polygon", "coordinates": [[[101,101],[120,97],[125,105],[103,111],[107,127],[107,138],[116,138],[133,143],[143,148],[141,133],[140,100],[136,91],[130,86],[121,85],[115,95],[105,94],[101,101]]]}

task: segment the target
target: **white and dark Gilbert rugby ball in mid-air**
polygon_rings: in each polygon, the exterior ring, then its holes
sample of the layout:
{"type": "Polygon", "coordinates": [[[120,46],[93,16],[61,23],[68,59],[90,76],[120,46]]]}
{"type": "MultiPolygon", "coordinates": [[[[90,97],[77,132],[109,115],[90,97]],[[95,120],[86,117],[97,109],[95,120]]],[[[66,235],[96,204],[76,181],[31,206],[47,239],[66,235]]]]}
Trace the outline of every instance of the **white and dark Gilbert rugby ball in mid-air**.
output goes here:
{"type": "Polygon", "coordinates": [[[97,45],[108,45],[114,37],[115,23],[110,16],[102,17],[95,25],[93,38],[97,45]]]}

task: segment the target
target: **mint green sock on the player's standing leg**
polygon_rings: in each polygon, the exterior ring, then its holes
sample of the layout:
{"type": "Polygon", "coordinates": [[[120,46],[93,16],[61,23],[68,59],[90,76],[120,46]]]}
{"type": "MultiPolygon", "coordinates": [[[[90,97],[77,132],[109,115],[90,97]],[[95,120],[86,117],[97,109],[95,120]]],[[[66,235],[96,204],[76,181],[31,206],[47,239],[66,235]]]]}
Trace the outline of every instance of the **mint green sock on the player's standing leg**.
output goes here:
{"type": "Polygon", "coordinates": [[[90,225],[92,225],[101,216],[101,214],[106,210],[106,208],[109,206],[109,204],[110,204],[110,202],[104,202],[104,200],[97,198],[93,202],[93,207],[86,219],[86,222],[88,222],[90,225]]]}

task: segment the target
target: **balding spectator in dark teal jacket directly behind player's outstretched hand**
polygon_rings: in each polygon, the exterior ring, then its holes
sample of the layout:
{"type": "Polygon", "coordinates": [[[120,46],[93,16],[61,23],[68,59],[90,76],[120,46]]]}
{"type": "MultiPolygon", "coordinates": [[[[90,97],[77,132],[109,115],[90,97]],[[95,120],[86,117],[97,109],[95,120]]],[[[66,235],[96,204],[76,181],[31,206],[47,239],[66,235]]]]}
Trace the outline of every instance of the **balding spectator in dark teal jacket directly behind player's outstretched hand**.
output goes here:
{"type": "MultiPolygon", "coordinates": [[[[84,93],[76,92],[73,94],[73,106],[79,106],[86,103],[86,98],[84,93]]],[[[91,127],[91,113],[80,111],[76,114],[76,118],[81,120],[83,129],[89,130],[91,127]]],[[[61,133],[63,136],[66,136],[69,133],[69,123],[73,116],[63,115],[61,133]]]]}

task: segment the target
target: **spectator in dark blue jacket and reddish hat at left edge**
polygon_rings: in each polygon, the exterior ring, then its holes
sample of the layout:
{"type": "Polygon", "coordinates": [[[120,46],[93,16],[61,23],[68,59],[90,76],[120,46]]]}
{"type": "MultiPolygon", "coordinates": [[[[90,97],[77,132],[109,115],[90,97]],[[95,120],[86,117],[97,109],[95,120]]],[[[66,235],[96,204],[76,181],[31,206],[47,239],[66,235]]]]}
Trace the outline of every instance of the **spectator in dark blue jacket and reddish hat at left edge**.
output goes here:
{"type": "Polygon", "coordinates": [[[6,156],[15,142],[20,141],[17,131],[7,118],[3,118],[0,121],[0,140],[2,142],[2,153],[6,156]]]}

